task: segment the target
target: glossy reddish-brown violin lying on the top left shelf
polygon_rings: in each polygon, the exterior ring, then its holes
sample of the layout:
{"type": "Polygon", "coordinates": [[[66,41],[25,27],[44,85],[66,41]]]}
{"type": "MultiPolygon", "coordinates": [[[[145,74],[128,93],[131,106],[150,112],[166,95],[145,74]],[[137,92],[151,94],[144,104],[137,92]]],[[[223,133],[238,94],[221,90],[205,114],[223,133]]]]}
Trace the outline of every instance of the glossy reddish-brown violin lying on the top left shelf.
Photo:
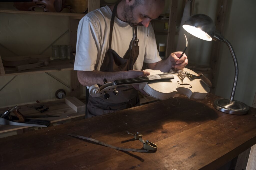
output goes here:
{"type": "Polygon", "coordinates": [[[65,7],[65,0],[17,0],[13,6],[22,11],[34,11],[39,7],[44,12],[60,12],[65,7]]]}

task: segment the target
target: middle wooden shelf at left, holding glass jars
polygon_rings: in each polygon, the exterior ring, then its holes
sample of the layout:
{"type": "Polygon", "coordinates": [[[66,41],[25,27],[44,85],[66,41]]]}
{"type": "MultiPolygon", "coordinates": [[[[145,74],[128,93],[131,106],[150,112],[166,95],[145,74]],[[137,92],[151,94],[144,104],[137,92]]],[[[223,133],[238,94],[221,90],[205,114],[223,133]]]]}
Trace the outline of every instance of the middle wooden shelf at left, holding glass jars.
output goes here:
{"type": "Polygon", "coordinates": [[[4,66],[5,73],[3,75],[17,75],[17,74],[52,72],[52,71],[63,71],[63,70],[73,70],[73,69],[74,69],[74,61],[72,60],[50,60],[48,66],[42,66],[42,67],[37,67],[37,68],[23,70],[23,71],[17,71],[15,67],[4,66]]]}

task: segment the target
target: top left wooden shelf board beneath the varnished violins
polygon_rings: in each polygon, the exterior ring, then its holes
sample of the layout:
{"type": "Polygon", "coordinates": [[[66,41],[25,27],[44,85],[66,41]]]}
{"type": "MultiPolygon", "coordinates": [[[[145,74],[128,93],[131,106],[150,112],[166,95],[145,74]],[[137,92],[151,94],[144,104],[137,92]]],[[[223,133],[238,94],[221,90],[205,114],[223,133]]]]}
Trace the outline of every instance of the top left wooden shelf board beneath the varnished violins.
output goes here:
{"type": "Polygon", "coordinates": [[[51,15],[51,16],[66,16],[81,19],[86,14],[77,14],[71,12],[37,12],[37,11],[19,11],[19,10],[3,10],[0,9],[0,13],[5,14],[30,14],[30,15],[51,15]]]}

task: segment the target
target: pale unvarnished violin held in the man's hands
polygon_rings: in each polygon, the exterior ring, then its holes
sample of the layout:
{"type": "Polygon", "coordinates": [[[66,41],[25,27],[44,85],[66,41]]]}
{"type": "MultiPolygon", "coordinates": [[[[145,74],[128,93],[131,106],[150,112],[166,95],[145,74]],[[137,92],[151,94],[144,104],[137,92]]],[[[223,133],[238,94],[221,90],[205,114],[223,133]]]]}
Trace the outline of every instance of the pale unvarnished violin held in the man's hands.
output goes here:
{"type": "Polygon", "coordinates": [[[113,82],[104,80],[105,84],[102,86],[99,84],[92,85],[89,88],[89,94],[92,97],[104,95],[104,98],[108,99],[110,96],[108,93],[118,95],[116,87],[120,85],[140,84],[140,89],[156,99],[168,99],[174,97],[176,93],[185,94],[188,98],[203,99],[212,86],[206,76],[201,73],[197,74],[187,68],[168,73],[150,69],[145,71],[150,72],[150,75],[113,82]]]}

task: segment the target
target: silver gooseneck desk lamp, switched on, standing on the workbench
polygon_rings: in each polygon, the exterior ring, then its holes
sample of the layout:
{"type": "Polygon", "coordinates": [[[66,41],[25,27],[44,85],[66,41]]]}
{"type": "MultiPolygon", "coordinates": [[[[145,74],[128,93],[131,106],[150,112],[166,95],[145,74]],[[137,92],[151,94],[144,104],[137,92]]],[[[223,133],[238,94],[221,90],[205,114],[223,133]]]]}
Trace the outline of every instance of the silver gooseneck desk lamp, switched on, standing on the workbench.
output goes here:
{"type": "Polygon", "coordinates": [[[214,101],[214,108],[228,114],[242,115],[246,114],[249,107],[237,100],[234,100],[234,94],[237,86],[238,79],[238,63],[233,47],[230,42],[226,40],[220,32],[215,30],[215,24],[213,20],[204,14],[196,14],[191,16],[182,27],[190,34],[206,41],[222,41],[227,44],[231,55],[233,57],[235,65],[235,78],[232,88],[232,93],[230,99],[217,99],[214,101]]]}

